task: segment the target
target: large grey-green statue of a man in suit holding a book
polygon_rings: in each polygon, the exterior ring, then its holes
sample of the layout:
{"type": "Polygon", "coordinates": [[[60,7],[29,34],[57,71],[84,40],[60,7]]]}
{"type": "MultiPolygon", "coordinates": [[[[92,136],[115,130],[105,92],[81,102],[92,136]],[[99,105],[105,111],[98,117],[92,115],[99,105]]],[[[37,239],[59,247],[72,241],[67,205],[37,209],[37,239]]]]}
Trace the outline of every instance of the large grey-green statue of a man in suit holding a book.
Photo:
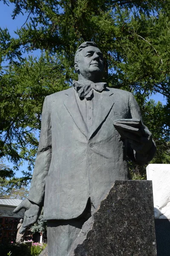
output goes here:
{"type": "Polygon", "coordinates": [[[44,207],[49,256],[67,256],[115,180],[130,177],[127,157],[142,165],[156,152],[133,95],[101,82],[94,42],[78,47],[75,71],[72,87],[45,98],[29,196],[15,209],[26,209],[23,232],[44,207]]]}

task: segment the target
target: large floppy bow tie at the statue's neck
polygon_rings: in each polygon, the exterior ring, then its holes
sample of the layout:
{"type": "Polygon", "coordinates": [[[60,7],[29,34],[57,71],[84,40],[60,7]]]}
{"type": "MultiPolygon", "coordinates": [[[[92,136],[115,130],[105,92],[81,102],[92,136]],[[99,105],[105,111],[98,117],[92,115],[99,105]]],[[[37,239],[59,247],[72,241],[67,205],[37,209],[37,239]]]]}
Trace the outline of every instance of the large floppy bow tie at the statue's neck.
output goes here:
{"type": "Polygon", "coordinates": [[[72,82],[73,87],[80,99],[90,100],[93,97],[93,90],[101,93],[106,87],[107,83],[93,83],[92,81],[75,81],[72,82]]]}

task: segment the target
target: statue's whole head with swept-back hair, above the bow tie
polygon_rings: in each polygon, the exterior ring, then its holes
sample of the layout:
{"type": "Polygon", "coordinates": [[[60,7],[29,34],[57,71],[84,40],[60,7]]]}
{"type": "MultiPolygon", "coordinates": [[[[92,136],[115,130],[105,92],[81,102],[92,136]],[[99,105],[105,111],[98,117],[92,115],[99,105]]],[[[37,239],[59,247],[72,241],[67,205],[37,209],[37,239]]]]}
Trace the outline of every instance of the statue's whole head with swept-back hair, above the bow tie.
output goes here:
{"type": "Polygon", "coordinates": [[[101,81],[104,72],[103,54],[95,42],[84,42],[78,47],[75,71],[79,80],[101,81]]]}

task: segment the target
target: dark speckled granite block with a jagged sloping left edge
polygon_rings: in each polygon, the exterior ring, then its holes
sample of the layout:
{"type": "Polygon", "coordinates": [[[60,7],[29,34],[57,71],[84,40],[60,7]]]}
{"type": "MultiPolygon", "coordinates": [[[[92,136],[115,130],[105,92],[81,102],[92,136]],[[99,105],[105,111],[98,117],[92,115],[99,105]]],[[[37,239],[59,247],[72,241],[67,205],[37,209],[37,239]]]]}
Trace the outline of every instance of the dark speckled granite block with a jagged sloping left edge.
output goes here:
{"type": "Polygon", "coordinates": [[[150,180],[116,180],[74,256],[156,256],[150,180]]]}

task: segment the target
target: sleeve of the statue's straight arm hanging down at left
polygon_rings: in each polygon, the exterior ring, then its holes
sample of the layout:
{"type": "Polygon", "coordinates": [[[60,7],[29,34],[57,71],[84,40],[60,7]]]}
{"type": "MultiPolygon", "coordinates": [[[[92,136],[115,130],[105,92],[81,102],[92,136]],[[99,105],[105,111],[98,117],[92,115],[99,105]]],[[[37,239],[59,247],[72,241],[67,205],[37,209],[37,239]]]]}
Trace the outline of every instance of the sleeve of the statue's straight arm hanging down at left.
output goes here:
{"type": "Polygon", "coordinates": [[[45,178],[49,171],[52,155],[51,117],[49,113],[48,96],[43,103],[41,118],[40,140],[32,175],[28,199],[38,205],[43,205],[45,192],[45,178]]]}

